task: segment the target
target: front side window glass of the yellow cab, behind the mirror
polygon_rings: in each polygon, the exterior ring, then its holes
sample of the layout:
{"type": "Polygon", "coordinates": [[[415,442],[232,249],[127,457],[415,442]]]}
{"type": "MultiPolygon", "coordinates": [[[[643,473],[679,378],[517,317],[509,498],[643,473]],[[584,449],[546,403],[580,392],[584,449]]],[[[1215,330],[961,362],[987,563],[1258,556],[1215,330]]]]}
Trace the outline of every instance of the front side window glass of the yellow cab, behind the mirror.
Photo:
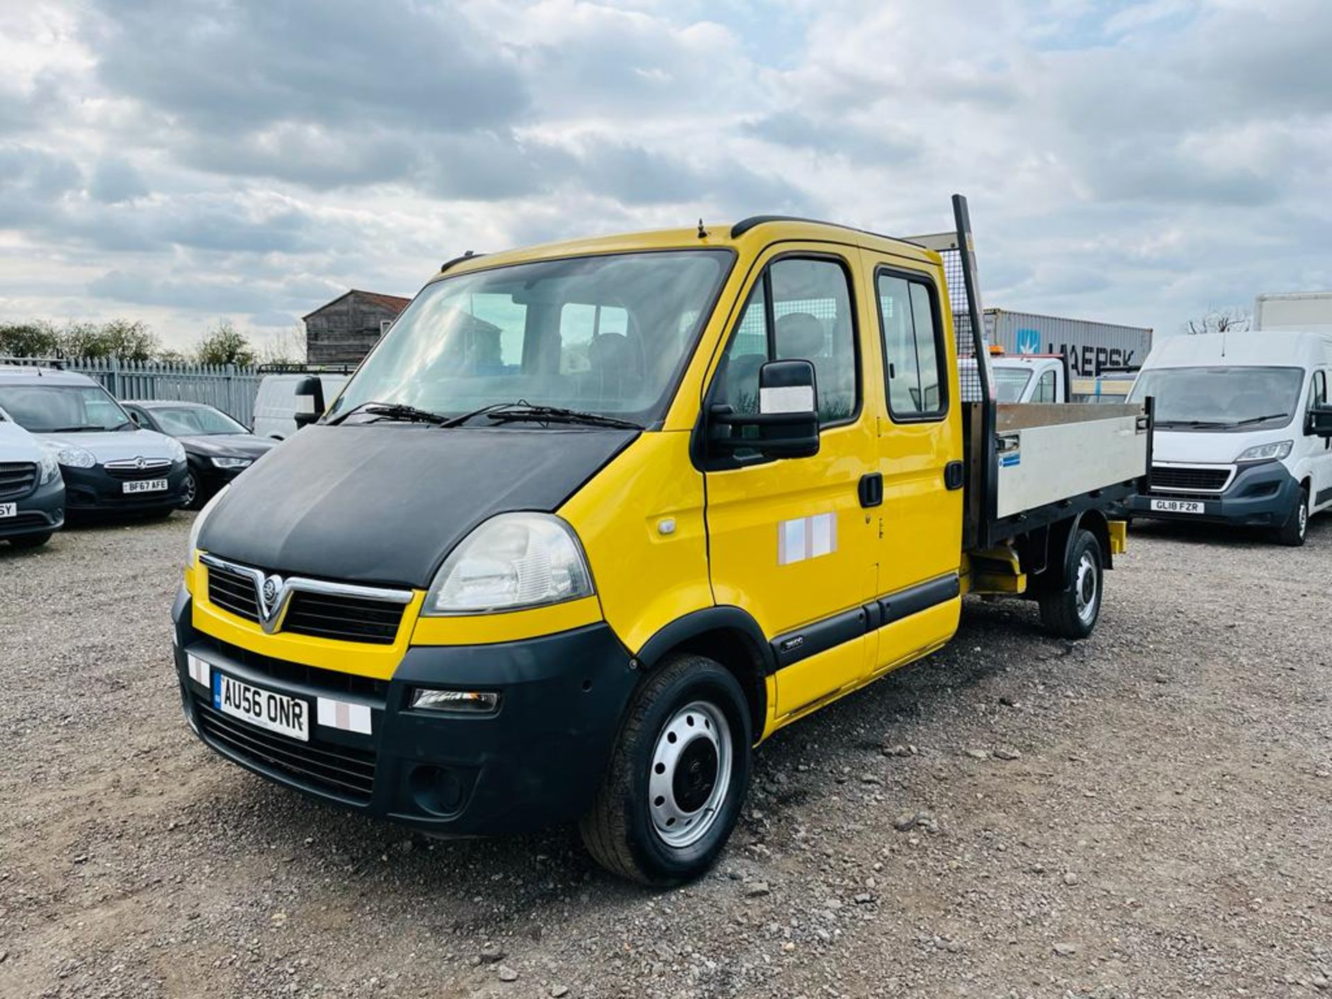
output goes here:
{"type": "Polygon", "coordinates": [[[717,401],[757,413],[758,369],[791,358],[814,365],[821,426],[859,412],[850,276],[835,261],[787,257],[763,272],[726,346],[717,401]]]}

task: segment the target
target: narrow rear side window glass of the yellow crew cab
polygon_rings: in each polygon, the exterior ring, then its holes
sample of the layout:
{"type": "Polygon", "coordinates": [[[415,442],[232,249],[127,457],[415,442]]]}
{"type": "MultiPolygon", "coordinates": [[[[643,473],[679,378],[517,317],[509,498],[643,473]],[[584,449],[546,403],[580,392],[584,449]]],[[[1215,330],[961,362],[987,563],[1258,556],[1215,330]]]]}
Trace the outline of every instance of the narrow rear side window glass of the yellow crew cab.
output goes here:
{"type": "Polygon", "coordinates": [[[948,409],[943,326],[932,285],[880,270],[875,280],[888,412],[895,420],[938,420],[948,409]]]}

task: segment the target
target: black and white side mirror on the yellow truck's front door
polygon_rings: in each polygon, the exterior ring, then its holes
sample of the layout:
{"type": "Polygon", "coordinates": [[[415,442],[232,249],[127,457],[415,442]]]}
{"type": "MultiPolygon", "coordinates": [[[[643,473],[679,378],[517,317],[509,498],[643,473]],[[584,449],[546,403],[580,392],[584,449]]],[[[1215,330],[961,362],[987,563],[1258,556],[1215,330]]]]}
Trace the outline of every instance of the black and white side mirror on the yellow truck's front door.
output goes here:
{"type": "Polygon", "coordinates": [[[807,458],[819,453],[818,388],[809,361],[769,361],[758,369],[758,413],[737,413],[714,405],[717,426],[754,426],[757,437],[709,434],[718,450],[754,449],[769,458],[807,458]]]}

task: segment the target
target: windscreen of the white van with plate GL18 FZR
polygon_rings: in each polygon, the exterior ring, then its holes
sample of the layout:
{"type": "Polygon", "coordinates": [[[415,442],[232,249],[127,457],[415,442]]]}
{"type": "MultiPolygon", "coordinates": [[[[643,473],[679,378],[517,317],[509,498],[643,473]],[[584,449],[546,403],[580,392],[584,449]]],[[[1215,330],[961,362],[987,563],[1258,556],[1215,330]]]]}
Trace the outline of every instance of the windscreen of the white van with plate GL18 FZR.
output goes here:
{"type": "Polygon", "coordinates": [[[1156,400],[1155,424],[1175,430],[1253,430],[1285,426],[1300,400],[1299,368],[1152,368],[1138,376],[1130,402],[1156,400]]]}

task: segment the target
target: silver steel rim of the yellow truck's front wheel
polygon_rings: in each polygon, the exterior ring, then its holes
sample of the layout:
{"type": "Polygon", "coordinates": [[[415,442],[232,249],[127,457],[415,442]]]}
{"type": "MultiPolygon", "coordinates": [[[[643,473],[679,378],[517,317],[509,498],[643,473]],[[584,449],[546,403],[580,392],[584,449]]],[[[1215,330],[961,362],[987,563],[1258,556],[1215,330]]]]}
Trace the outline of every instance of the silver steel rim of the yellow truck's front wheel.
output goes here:
{"type": "Polygon", "coordinates": [[[661,840],[693,846],[715,825],[731,786],[735,754],[722,710],[693,701],[670,717],[653,746],[647,810],[661,840]]]}

